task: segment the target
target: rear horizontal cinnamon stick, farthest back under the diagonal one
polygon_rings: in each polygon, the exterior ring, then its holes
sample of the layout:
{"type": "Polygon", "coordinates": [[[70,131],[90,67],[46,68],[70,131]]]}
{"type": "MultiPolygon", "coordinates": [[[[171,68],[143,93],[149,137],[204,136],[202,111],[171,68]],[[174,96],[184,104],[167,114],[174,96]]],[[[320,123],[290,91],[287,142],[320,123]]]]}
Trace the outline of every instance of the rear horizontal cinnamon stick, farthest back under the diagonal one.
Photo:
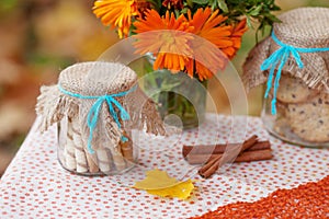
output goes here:
{"type": "MultiPolygon", "coordinates": [[[[231,143],[230,146],[237,147],[241,143],[231,143]]],[[[206,146],[206,145],[197,145],[197,146],[188,146],[184,145],[182,148],[182,154],[184,158],[191,154],[218,154],[224,153],[226,150],[226,145],[214,145],[214,146],[206,146]]],[[[254,151],[254,150],[265,150],[271,147],[270,141],[257,141],[253,146],[251,146],[247,151],[254,151]]]]}

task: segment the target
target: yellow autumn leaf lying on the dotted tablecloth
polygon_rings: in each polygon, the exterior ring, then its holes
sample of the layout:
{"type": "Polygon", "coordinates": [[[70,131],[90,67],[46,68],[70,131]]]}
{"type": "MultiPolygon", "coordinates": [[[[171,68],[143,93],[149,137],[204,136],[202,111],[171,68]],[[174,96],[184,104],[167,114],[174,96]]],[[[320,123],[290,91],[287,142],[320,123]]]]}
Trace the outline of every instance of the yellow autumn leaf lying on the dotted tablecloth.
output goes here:
{"type": "Polygon", "coordinates": [[[144,189],[151,195],[180,199],[186,199],[194,189],[191,180],[180,182],[174,177],[170,177],[167,172],[157,169],[147,171],[146,177],[136,182],[133,187],[144,189]]]}

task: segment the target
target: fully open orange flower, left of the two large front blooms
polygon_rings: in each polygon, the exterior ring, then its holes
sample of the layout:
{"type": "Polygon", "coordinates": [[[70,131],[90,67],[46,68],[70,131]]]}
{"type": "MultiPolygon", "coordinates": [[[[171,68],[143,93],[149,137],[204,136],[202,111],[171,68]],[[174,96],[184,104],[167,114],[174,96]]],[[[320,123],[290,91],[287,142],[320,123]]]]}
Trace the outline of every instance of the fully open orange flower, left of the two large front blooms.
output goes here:
{"type": "Polygon", "coordinates": [[[161,18],[156,10],[149,10],[145,19],[134,22],[136,27],[134,44],[136,53],[151,53],[156,56],[154,69],[167,68],[173,71],[184,70],[186,57],[192,50],[189,41],[193,37],[189,32],[193,28],[181,14],[175,19],[173,13],[166,12],[161,18]]]}

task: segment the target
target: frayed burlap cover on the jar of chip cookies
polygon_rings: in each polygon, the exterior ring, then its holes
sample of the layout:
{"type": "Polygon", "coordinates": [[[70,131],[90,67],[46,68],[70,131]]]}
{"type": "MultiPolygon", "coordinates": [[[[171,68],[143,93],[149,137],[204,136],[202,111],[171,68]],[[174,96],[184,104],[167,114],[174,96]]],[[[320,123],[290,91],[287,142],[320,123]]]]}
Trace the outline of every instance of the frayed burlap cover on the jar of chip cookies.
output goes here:
{"type": "MultiPolygon", "coordinates": [[[[273,31],[279,41],[294,47],[329,47],[329,9],[299,8],[279,15],[282,23],[275,23],[273,31]]],[[[243,64],[242,80],[246,90],[262,84],[268,71],[261,71],[261,64],[280,46],[266,37],[249,53],[243,64]]],[[[300,78],[309,88],[329,92],[329,51],[299,53],[304,68],[298,68],[290,57],[283,71],[300,78]]],[[[279,66],[276,66],[276,69],[279,66]]]]}

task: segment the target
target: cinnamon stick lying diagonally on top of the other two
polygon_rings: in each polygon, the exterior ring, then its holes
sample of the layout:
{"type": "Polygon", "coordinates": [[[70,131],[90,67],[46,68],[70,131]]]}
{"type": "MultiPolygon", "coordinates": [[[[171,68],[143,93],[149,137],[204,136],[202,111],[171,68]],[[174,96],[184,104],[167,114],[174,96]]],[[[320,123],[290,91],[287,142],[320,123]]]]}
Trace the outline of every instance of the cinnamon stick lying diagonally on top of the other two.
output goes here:
{"type": "MultiPolygon", "coordinates": [[[[242,147],[240,149],[240,151],[238,152],[238,154],[241,154],[245,150],[249,149],[251,146],[253,146],[257,142],[257,136],[253,135],[251,136],[249,139],[247,139],[243,143],[242,147]]],[[[228,152],[227,153],[223,153],[223,154],[218,154],[216,158],[211,159],[205,165],[203,165],[200,170],[198,170],[198,174],[202,177],[209,177],[211,175],[213,175],[219,166],[222,166],[224,163],[231,161],[232,159],[235,159],[238,154],[236,152],[237,148],[239,147],[239,145],[237,146],[231,146],[228,145],[228,152]]]]}

